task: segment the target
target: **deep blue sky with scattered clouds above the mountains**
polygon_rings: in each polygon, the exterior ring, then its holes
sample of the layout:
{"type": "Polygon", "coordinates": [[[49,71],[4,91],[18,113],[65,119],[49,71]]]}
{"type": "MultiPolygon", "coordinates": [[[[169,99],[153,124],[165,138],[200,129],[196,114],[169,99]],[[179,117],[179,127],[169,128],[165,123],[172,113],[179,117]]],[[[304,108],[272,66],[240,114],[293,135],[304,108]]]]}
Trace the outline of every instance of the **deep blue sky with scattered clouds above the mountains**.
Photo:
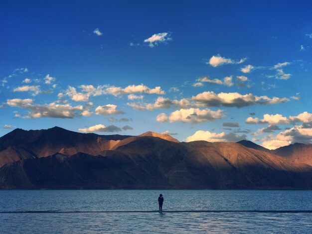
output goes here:
{"type": "Polygon", "coordinates": [[[312,142],[311,1],[0,3],[0,135],[312,142]]]}

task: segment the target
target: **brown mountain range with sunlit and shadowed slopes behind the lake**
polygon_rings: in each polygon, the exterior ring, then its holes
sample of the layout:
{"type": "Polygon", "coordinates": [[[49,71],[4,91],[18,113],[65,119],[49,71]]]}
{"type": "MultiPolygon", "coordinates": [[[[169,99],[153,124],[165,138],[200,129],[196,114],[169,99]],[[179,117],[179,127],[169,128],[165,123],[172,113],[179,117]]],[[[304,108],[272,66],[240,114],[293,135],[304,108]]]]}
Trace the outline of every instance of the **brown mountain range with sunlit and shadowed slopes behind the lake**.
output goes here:
{"type": "Polygon", "coordinates": [[[312,145],[17,128],[0,137],[0,189],[312,189],[312,145]]]}

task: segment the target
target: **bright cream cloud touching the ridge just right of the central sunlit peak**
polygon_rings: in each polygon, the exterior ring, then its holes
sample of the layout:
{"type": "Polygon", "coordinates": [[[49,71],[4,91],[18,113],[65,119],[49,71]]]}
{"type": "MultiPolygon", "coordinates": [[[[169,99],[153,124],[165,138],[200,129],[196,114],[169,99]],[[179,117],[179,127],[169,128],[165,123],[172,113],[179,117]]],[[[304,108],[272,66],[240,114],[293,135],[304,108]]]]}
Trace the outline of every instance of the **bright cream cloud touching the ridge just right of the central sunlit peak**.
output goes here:
{"type": "Polygon", "coordinates": [[[227,142],[227,141],[239,141],[246,139],[246,135],[237,135],[234,133],[215,133],[210,131],[198,130],[193,135],[186,138],[186,142],[195,141],[195,140],[205,140],[209,142],[227,142]]]}

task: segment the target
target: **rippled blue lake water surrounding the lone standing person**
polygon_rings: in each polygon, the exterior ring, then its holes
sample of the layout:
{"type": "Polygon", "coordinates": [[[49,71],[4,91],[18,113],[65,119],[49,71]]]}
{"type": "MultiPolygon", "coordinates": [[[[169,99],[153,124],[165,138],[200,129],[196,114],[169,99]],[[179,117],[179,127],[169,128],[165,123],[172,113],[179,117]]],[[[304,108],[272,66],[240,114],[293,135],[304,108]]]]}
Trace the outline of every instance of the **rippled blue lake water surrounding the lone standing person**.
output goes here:
{"type": "Polygon", "coordinates": [[[312,191],[0,190],[0,233],[311,233],[311,212],[312,191]]]}

